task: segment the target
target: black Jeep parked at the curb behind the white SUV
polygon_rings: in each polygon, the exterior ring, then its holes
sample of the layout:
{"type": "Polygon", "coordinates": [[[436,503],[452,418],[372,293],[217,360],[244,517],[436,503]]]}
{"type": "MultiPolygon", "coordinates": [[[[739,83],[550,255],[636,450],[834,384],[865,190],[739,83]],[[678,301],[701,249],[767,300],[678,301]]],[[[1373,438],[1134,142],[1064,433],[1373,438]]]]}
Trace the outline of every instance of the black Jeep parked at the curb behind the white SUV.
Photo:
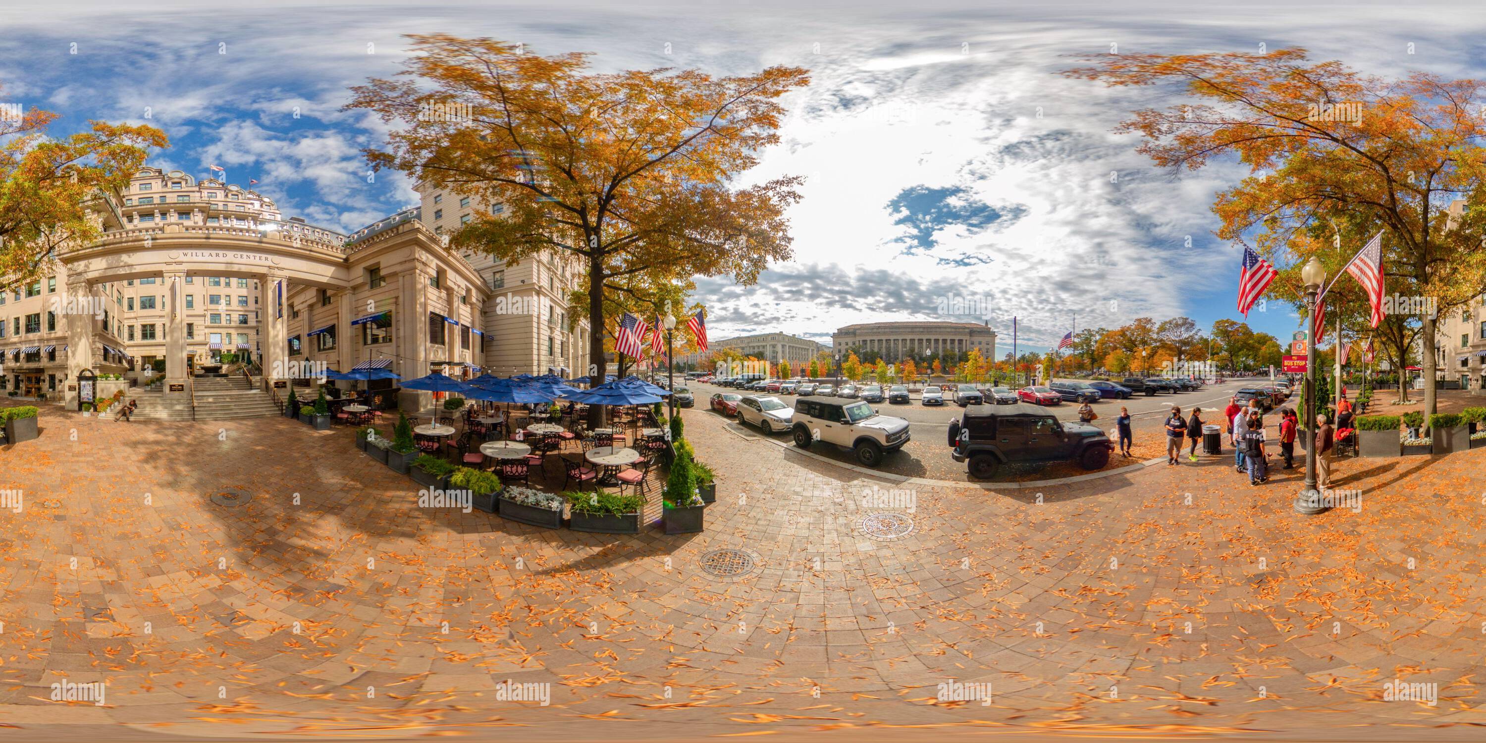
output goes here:
{"type": "Polygon", "coordinates": [[[1097,426],[1061,422],[1045,409],[1015,406],[970,406],[964,422],[950,421],[950,446],[955,462],[970,462],[970,477],[990,480],[1003,464],[1079,462],[1085,470],[1109,464],[1110,443],[1097,426]]]}

